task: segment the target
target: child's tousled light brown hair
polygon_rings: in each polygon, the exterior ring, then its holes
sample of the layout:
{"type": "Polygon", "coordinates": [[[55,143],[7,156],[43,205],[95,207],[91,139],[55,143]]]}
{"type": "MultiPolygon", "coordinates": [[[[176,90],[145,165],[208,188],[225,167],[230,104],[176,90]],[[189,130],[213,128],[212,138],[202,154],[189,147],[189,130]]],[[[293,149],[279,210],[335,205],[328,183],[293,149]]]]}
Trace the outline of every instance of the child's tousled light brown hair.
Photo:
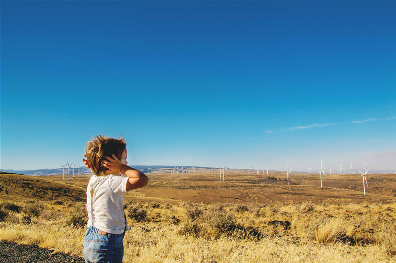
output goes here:
{"type": "Polygon", "coordinates": [[[119,139],[115,139],[99,134],[95,138],[91,138],[85,145],[85,155],[94,175],[105,175],[107,168],[102,166],[101,163],[102,160],[107,160],[104,157],[112,158],[112,154],[114,154],[119,160],[121,159],[127,143],[121,135],[118,137],[119,139]]]}

